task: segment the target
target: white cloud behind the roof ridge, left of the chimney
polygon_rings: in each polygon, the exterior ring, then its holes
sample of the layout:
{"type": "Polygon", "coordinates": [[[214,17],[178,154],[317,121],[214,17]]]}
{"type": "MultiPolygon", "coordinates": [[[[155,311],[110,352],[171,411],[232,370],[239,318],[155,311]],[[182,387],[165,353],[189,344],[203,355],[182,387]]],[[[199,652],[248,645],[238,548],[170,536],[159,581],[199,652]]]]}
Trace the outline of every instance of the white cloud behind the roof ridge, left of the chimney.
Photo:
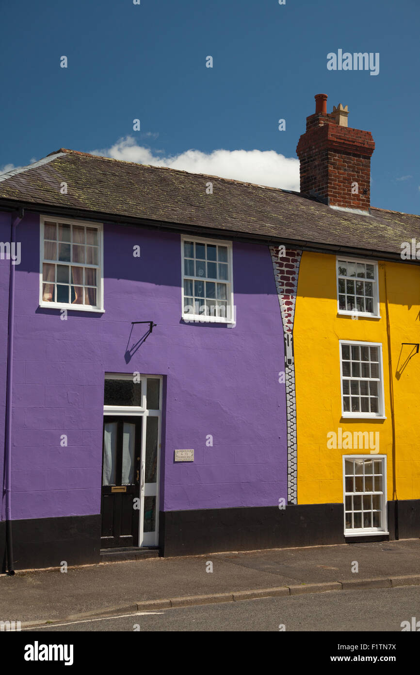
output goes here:
{"type": "Polygon", "coordinates": [[[165,157],[163,151],[151,151],[138,145],[132,136],[127,136],[120,138],[111,148],[92,151],[92,155],[183,169],[191,173],[208,173],[284,190],[299,190],[299,160],[284,157],[274,150],[214,150],[212,153],[187,150],[165,157]]]}

